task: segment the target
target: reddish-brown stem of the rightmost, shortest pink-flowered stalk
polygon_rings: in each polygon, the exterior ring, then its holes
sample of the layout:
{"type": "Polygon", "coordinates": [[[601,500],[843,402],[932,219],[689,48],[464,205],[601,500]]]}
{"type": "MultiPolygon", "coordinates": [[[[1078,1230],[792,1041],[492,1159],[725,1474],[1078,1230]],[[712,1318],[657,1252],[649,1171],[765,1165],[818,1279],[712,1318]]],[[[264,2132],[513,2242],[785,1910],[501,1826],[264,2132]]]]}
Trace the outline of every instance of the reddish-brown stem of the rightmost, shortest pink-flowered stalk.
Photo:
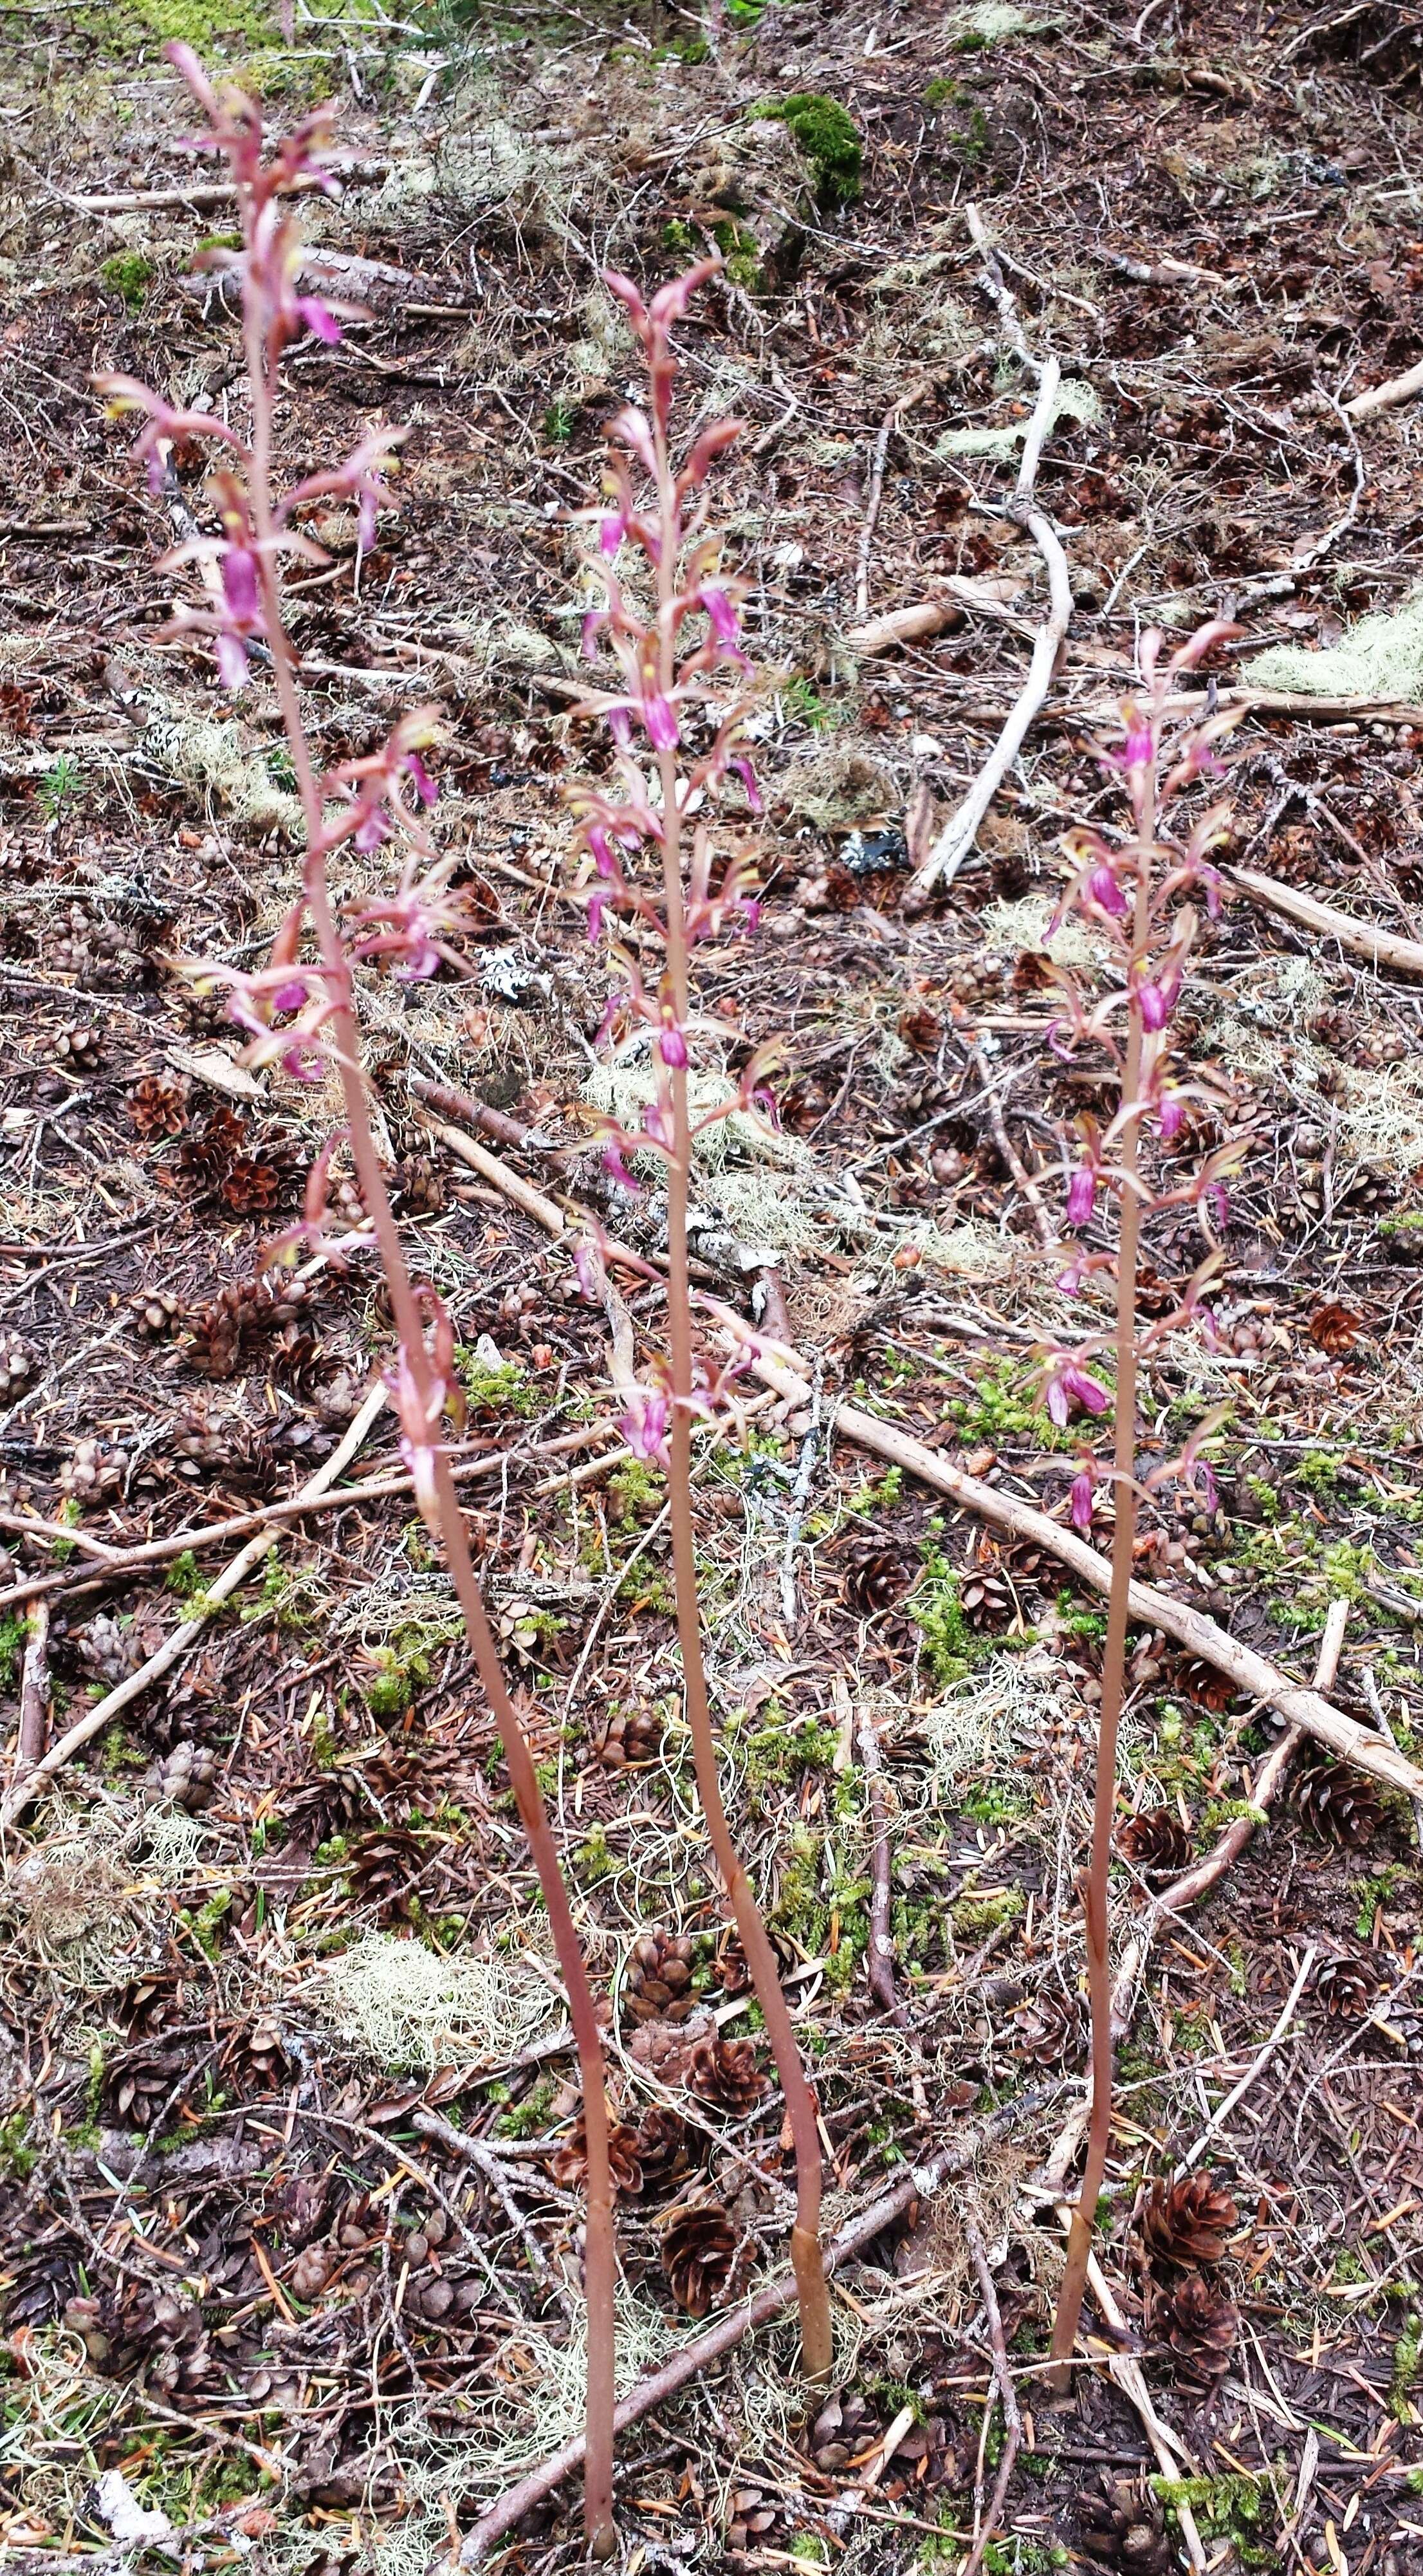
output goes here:
{"type": "MultiPolygon", "coordinates": [[[[1143,866],[1137,878],[1132,945],[1137,953],[1148,940],[1150,876],[1143,866]]],[[[1127,1066],[1122,1097],[1137,1100],[1143,1079],[1143,1015],[1130,1002],[1127,1066]]],[[[1112,1821],[1117,1814],[1117,1736],[1122,1726],[1122,1690],[1127,1674],[1127,1597],[1132,1589],[1132,1540],[1137,1535],[1137,1260],[1143,1231],[1143,1203],[1137,1190],[1140,1118],[1127,1118],[1122,1131],[1122,1221],[1117,1231],[1117,1412],[1114,1412],[1114,1525],[1112,1525],[1112,1592],[1106,1595],[1106,1651],[1101,1656],[1101,1705],[1096,1721],[1096,1783],[1091,1803],[1091,1868],[1083,1888],[1086,1914],[1086,1991],[1091,2012],[1091,2123],[1086,2136],[1083,2184],[1068,2233],[1068,2262],[1058,2290],[1052,2318],[1052,2372],[1050,2385],[1065,2396],[1068,2360],[1078,2336],[1078,2318],[1086,2290],[1086,2264],[1091,2257],[1091,2231],[1096,2226],[1096,2200],[1106,2177],[1106,2151],[1112,2146],[1112,1958],[1106,1924],[1106,1891],[1112,1870],[1112,1821]]]]}

